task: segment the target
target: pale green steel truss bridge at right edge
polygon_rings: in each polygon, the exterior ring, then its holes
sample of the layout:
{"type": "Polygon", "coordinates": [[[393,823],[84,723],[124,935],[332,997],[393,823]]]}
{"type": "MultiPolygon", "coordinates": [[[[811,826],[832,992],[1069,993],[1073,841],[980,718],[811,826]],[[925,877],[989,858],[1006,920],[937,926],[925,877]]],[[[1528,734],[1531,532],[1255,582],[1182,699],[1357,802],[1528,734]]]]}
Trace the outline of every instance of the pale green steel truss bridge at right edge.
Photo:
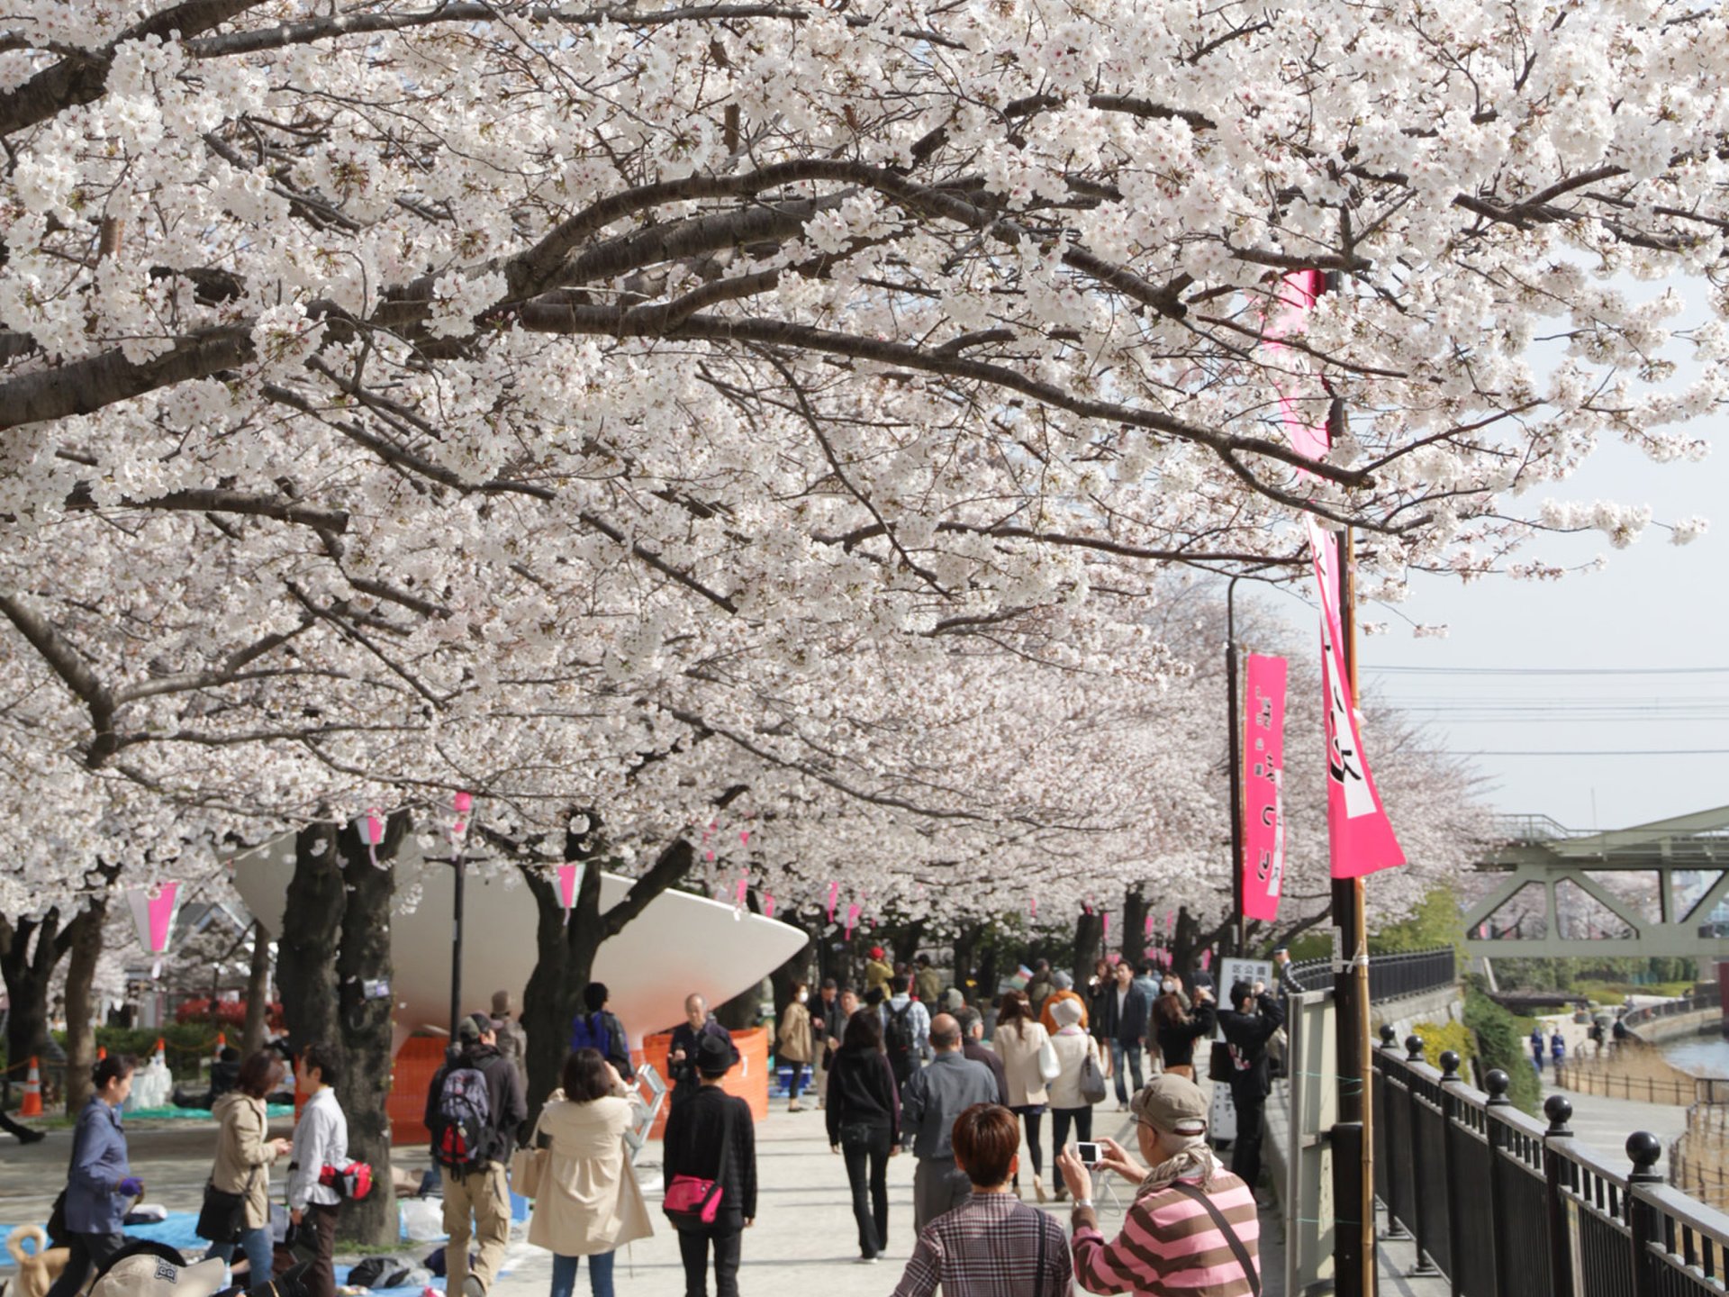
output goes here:
{"type": "Polygon", "coordinates": [[[1503,875],[1464,915],[1471,958],[1729,960],[1729,806],[1584,832],[1503,816],[1477,868],[1503,875]]]}

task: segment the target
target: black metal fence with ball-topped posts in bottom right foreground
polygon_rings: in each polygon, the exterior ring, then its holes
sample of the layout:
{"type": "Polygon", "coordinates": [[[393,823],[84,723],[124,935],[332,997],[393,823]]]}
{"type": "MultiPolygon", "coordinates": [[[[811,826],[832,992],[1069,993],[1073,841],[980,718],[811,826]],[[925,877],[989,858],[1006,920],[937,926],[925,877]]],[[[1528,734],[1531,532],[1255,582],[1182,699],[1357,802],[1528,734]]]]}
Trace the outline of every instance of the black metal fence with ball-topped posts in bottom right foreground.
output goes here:
{"type": "Polygon", "coordinates": [[[1573,1105],[1544,1103],[1549,1122],[1440,1069],[1423,1041],[1400,1050],[1390,1027],[1375,1051],[1375,1188],[1394,1230],[1416,1238],[1420,1273],[1459,1297],[1693,1297],[1724,1294],[1729,1216],[1662,1183],[1655,1134],[1627,1138],[1629,1169],[1577,1143],[1573,1105]]]}

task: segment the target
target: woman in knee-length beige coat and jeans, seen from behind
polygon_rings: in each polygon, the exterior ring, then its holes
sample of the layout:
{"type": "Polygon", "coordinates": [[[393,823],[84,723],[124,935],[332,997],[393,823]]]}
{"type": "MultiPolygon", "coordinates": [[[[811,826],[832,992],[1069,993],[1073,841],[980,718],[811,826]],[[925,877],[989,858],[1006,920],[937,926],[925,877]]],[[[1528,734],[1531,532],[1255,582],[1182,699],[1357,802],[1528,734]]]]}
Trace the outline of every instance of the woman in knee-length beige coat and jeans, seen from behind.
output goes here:
{"type": "Polygon", "coordinates": [[[550,1153],[529,1242],[553,1254],[552,1297],[571,1297],[579,1257],[588,1257],[595,1297],[612,1297],[612,1254],[654,1233],[624,1157],[635,1107],[617,1069],[598,1050],[577,1050],[564,1060],[564,1088],[541,1109],[536,1147],[550,1153]]]}

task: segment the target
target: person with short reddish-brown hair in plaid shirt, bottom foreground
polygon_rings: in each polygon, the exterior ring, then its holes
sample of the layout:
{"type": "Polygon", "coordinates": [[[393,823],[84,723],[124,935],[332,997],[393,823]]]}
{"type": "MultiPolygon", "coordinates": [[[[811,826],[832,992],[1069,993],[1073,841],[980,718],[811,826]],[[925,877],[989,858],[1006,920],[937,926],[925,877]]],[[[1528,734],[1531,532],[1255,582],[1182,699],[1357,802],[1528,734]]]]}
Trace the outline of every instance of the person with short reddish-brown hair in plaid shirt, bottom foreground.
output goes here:
{"type": "Polygon", "coordinates": [[[918,1235],[894,1297],[1070,1297],[1069,1240],[1048,1214],[1020,1202],[1020,1126],[999,1103],[973,1103],[954,1119],[954,1166],[972,1195],[918,1235]]]}

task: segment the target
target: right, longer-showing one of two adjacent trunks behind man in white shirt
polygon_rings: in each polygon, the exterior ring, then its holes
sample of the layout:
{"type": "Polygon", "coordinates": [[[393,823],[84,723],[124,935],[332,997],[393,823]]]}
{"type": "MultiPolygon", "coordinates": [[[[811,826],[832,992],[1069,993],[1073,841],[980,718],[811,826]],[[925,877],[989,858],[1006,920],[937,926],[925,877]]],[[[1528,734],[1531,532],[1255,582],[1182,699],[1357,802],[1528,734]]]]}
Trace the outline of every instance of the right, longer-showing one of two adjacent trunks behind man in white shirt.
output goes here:
{"type": "Polygon", "coordinates": [[[348,1155],[370,1162],[372,1193],[351,1202],[341,1217],[344,1238],[392,1247],[401,1223],[391,1185],[391,901],[396,896],[396,853],[408,837],[410,815],[394,813],[384,840],[372,851],[354,825],[337,835],[342,875],[342,944],[335,956],[341,1006],[342,1076],[335,1088],[348,1115],[348,1155]],[[379,866],[373,866],[373,856],[379,866]]]}

